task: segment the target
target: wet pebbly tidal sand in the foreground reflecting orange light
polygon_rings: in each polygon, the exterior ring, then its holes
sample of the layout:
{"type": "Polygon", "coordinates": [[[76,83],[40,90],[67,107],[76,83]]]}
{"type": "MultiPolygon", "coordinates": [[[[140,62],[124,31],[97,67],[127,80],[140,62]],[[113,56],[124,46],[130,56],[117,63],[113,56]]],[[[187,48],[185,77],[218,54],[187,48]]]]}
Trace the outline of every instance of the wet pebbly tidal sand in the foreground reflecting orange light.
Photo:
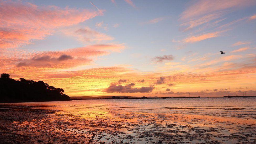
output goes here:
{"type": "Polygon", "coordinates": [[[0,115],[1,143],[256,143],[255,119],[61,106],[0,115]]]}

